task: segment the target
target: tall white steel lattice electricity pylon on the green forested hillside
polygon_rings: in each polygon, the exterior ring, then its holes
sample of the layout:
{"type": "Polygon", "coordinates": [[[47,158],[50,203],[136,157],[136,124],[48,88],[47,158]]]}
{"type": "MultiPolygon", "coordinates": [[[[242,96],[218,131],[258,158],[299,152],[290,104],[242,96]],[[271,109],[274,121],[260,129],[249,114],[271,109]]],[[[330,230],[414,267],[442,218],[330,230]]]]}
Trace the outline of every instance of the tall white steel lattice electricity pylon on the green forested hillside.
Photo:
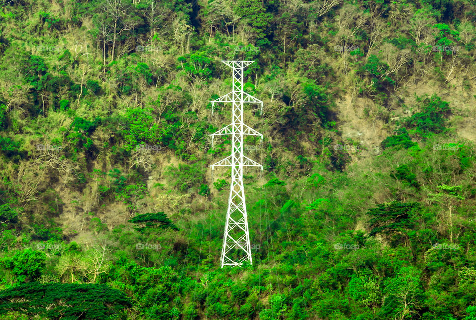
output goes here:
{"type": "Polygon", "coordinates": [[[232,68],[233,71],[232,91],[212,101],[212,114],[215,103],[232,103],[232,122],[211,135],[212,147],[213,138],[215,136],[232,136],[231,154],[225,159],[211,165],[212,170],[215,166],[230,166],[232,169],[225,234],[223,236],[221,268],[223,268],[223,266],[241,266],[244,261],[248,261],[250,264],[253,263],[251,258],[251,244],[249,242],[246,200],[244,197],[243,167],[261,167],[261,170],[263,170],[263,167],[259,163],[243,154],[244,135],[260,136],[261,140],[263,139],[262,134],[243,123],[244,103],[260,103],[261,114],[263,113],[263,102],[243,91],[244,68],[254,61],[222,62],[232,68]]]}

